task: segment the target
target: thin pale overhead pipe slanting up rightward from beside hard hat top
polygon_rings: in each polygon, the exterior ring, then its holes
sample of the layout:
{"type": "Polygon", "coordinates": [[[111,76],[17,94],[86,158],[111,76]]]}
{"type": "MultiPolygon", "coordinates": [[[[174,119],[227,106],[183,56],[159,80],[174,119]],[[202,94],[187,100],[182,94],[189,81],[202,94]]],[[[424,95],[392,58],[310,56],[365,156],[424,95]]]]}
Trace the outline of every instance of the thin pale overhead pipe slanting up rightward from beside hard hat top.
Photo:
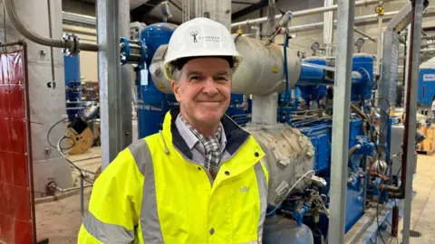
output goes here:
{"type": "MultiPolygon", "coordinates": [[[[391,2],[391,1],[395,1],[395,0],[383,0],[382,2],[386,3],[386,2],[391,2]]],[[[362,6],[362,5],[367,6],[367,5],[378,5],[378,4],[379,4],[379,0],[360,0],[360,1],[355,2],[355,7],[362,6]]],[[[293,17],[295,18],[296,16],[304,16],[304,15],[310,15],[310,14],[322,14],[322,13],[325,13],[328,11],[335,11],[335,10],[337,10],[337,8],[338,8],[338,5],[332,5],[332,6],[327,6],[327,7],[324,6],[324,7],[306,9],[306,10],[302,10],[302,11],[296,11],[296,12],[293,12],[293,17]]],[[[281,14],[276,14],[275,19],[279,19],[279,18],[281,18],[281,14]]],[[[239,26],[245,26],[248,24],[257,24],[257,23],[266,23],[266,22],[267,22],[267,17],[256,18],[253,20],[247,19],[246,21],[231,23],[231,28],[233,28],[233,27],[237,28],[239,26]]]]}

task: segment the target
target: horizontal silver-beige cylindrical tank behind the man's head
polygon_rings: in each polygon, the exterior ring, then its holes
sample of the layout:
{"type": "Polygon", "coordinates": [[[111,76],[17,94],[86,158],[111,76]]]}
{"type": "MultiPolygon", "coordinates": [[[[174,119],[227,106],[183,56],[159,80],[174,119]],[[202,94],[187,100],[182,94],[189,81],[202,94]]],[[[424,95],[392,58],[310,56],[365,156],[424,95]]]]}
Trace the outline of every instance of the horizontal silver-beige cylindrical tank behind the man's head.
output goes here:
{"type": "MultiPolygon", "coordinates": [[[[235,36],[237,52],[243,62],[233,75],[232,93],[258,96],[285,91],[284,47],[245,36],[235,36]]],[[[160,91],[170,94],[170,80],[163,75],[167,45],[160,46],[150,65],[151,78],[160,91]]],[[[301,61],[287,48],[288,89],[295,86],[301,73],[301,61]]]]}

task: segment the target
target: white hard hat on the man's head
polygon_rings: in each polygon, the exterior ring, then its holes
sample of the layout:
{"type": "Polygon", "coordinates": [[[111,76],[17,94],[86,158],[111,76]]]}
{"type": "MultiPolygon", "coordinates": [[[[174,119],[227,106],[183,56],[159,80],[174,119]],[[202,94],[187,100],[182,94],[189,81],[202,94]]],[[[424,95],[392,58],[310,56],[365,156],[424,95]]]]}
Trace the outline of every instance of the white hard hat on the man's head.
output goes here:
{"type": "Polygon", "coordinates": [[[233,58],[233,72],[242,62],[233,37],[222,23],[208,18],[195,18],[182,23],[169,40],[164,61],[164,73],[173,80],[174,61],[189,57],[222,56],[233,58]]]}

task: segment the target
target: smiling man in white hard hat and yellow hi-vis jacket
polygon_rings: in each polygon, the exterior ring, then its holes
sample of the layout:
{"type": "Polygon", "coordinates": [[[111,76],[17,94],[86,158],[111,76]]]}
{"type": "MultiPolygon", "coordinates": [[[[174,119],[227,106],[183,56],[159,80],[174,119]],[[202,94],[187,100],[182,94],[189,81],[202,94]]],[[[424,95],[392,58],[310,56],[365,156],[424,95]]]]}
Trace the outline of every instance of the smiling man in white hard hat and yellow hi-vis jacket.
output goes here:
{"type": "Polygon", "coordinates": [[[242,61],[227,28],[181,24],[165,57],[179,108],[95,182],[79,243],[258,243],[268,173],[256,140],[225,111],[242,61]]]}

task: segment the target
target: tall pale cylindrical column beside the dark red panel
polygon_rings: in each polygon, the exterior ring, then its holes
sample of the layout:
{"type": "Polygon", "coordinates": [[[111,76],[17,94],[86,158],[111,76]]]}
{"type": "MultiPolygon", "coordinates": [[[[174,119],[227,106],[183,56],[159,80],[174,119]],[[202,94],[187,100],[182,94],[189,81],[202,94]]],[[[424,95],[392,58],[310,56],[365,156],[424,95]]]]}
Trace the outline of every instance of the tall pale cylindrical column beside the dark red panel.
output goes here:
{"type": "MultiPolygon", "coordinates": [[[[46,1],[15,0],[14,5],[17,14],[29,30],[49,36],[46,1]]],[[[0,6],[3,9],[3,3],[0,6]]],[[[24,37],[15,29],[7,14],[0,11],[0,15],[0,41],[3,43],[23,40],[24,37]]],[[[62,1],[51,1],[51,15],[53,39],[59,39],[63,33],[62,1]]],[[[47,142],[50,127],[66,114],[63,54],[60,49],[53,49],[56,88],[50,89],[47,87],[47,83],[52,80],[50,47],[25,41],[28,43],[34,192],[45,192],[45,186],[50,181],[57,183],[61,188],[68,188],[73,184],[70,164],[47,142]]],[[[16,49],[10,47],[8,51],[16,49]]],[[[64,124],[53,127],[49,137],[51,143],[56,145],[57,140],[64,136],[65,132],[64,124]]]]}

